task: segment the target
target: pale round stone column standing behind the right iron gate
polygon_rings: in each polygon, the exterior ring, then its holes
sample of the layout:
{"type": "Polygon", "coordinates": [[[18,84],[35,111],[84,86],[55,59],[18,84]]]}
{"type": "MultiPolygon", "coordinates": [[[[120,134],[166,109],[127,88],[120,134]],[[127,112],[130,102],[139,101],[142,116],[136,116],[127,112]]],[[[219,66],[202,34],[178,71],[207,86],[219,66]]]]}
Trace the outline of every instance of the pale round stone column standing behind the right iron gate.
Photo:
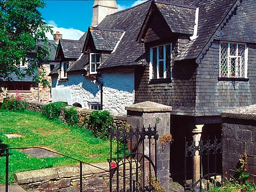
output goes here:
{"type": "MultiPolygon", "coordinates": [[[[193,129],[192,133],[193,133],[193,141],[195,142],[195,145],[198,146],[199,142],[201,140],[201,135],[202,135],[202,127],[204,125],[196,125],[196,128],[193,129]]],[[[200,155],[199,155],[199,151],[196,151],[196,154],[193,156],[193,183],[196,182],[197,180],[200,179],[200,174],[201,174],[201,170],[200,170],[200,155]]]]}

